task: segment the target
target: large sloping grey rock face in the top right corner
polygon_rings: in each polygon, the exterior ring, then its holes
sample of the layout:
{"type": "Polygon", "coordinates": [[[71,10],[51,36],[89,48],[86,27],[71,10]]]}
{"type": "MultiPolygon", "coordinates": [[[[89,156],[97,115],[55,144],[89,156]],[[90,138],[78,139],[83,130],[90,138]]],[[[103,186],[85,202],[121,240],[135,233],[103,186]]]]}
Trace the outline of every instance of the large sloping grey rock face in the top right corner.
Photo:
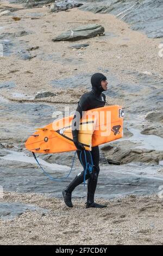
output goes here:
{"type": "Polygon", "coordinates": [[[84,1],[80,8],[93,13],[110,13],[131,25],[131,29],[143,31],[149,38],[162,38],[161,0],[84,1]]]}

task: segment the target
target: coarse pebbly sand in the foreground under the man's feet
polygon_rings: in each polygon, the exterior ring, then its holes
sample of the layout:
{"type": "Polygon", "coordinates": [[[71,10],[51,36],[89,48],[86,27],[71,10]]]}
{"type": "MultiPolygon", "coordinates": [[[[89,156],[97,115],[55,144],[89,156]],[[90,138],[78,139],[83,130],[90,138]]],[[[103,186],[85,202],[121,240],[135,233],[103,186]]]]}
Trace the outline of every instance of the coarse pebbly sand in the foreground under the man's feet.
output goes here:
{"type": "Polygon", "coordinates": [[[47,213],[27,211],[0,221],[1,245],[162,245],[163,205],[158,196],[97,200],[105,209],[85,209],[83,199],[67,208],[39,194],[4,193],[0,202],[22,202],[47,213]]]}

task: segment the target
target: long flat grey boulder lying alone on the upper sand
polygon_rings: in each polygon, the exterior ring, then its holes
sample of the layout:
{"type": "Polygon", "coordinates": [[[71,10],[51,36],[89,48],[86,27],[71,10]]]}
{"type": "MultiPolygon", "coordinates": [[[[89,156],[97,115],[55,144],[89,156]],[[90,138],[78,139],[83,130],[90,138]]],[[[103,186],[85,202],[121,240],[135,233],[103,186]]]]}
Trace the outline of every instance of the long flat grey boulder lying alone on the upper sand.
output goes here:
{"type": "Polygon", "coordinates": [[[102,27],[101,25],[89,24],[62,33],[56,38],[53,38],[52,41],[78,41],[82,39],[92,38],[97,35],[102,35],[103,33],[104,27],[102,27]]]}

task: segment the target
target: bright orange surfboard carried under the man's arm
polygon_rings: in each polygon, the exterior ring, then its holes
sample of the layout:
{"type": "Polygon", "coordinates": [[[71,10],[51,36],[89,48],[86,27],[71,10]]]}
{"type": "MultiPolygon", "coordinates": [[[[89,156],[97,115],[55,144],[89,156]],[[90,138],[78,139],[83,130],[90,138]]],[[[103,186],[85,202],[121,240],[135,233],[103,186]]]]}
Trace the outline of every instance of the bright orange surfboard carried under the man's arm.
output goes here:
{"type": "MultiPolygon", "coordinates": [[[[26,148],[37,153],[60,153],[76,150],[72,138],[74,115],[37,129],[26,141],[26,148]]],[[[106,106],[86,111],[80,120],[79,142],[86,150],[123,136],[121,106],[106,106]]]]}

